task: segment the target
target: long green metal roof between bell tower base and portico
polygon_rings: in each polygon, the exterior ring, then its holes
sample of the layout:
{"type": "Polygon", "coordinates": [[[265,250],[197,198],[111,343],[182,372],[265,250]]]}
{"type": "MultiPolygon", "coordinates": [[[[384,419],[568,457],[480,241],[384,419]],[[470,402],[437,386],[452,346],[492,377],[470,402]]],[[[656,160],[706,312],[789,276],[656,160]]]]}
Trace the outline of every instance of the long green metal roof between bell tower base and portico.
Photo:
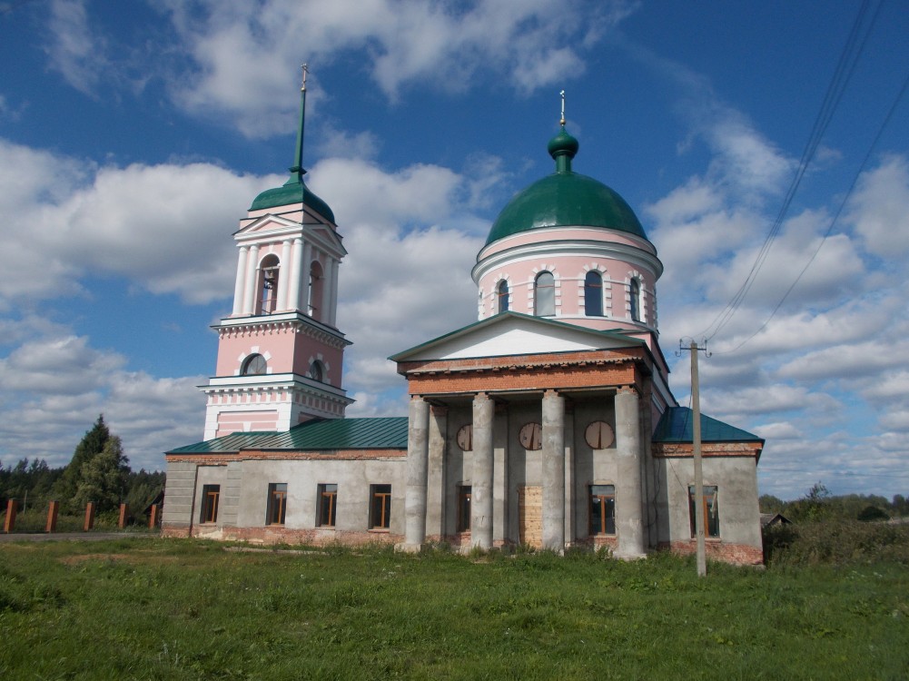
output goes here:
{"type": "Polygon", "coordinates": [[[307,421],[286,431],[232,433],[172,449],[167,454],[226,454],[242,449],[406,449],[407,417],[307,421]]]}

